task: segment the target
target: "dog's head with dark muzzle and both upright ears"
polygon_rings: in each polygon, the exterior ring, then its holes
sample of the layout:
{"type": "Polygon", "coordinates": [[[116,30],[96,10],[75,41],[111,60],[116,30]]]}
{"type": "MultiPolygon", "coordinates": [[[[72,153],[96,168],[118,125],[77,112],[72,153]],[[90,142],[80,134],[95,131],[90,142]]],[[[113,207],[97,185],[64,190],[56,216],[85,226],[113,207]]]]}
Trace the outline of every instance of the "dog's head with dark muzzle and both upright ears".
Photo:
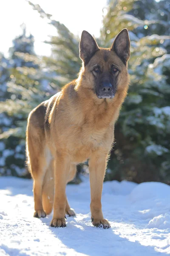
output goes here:
{"type": "Polygon", "coordinates": [[[127,29],[117,35],[108,49],[99,48],[94,38],[83,31],[79,49],[84,87],[93,90],[98,98],[114,98],[116,91],[128,84],[130,40],[127,29]]]}

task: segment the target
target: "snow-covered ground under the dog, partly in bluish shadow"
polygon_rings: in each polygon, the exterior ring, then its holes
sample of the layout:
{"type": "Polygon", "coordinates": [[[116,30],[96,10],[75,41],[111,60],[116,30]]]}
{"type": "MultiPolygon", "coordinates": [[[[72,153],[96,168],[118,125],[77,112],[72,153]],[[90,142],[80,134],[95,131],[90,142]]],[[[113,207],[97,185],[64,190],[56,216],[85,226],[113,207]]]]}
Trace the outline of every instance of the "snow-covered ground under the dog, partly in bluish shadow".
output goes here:
{"type": "Polygon", "coordinates": [[[69,185],[77,217],[49,227],[52,215],[33,218],[32,181],[0,177],[0,256],[152,256],[170,253],[170,186],[105,182],[102,207],[111,229],[93,227],[90,187],[69,185]]]}

